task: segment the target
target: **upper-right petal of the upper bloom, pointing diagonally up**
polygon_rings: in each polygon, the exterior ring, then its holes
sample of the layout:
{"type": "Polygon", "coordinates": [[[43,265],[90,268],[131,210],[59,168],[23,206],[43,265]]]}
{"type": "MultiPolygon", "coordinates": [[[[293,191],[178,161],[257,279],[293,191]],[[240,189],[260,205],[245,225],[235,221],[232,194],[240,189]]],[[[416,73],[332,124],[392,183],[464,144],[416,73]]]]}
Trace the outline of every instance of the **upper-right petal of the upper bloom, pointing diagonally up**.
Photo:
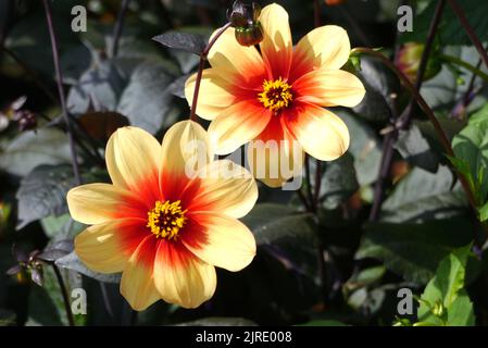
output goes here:
{"type": "Polygon", "coordinates": [[[325,25],[313,29],[295,48],[291,82],[312,70],[342,67],[350,51],[348,33],[340,26],[325,25]]]}

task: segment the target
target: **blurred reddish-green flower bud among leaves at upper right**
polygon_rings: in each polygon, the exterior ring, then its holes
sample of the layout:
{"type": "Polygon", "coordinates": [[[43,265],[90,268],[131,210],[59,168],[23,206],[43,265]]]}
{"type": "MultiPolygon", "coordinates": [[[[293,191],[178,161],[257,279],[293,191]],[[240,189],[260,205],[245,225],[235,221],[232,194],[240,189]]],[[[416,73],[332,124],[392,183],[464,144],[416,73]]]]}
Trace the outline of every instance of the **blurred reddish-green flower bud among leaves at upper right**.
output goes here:
{"type": "MultiPolygon", "coordinates": [[[[412,84],[415,83],[418,69],[421,66],[422,53],[424,52],[424,45],[416,42],[408,42],[403,45],[397,54],[395,65],[410,79],[412,84]]],[[[424,80],[427,80],[437,75],[440,71],[440,63],[435,57],[427,62],[427,67],[424,74],[424,80]]]]}

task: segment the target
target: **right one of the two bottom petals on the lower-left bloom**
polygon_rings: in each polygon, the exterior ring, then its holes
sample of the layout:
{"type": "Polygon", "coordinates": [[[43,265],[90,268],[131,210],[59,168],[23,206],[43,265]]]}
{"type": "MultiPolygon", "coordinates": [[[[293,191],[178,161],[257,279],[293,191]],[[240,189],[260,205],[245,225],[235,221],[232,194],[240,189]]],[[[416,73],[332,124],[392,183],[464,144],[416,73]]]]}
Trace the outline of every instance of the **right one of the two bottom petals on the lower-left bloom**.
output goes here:
{"type": "Polygon", "coordinates": [[[196,258],[179,243],[159,243],[154,282],[163,300],[197,308],[215,293],[215,269],[196,258]]]}

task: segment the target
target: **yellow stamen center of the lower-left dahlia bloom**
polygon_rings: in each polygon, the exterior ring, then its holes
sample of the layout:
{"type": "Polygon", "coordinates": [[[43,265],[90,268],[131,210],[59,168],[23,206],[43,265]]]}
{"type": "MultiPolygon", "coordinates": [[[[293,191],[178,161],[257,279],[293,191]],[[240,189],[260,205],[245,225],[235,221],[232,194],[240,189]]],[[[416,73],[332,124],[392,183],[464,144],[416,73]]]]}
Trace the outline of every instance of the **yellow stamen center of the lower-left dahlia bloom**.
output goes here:
{"type": "Polygon", "coordinates": [[[146,227],[149,227],[157,238],[176,240],[188,220],[185,216],[186,212],[187,210],[182,210],[179,200],[175,202],[166,200],[164,203],[158,200],[154,208],[148,212],[146,227]]]}

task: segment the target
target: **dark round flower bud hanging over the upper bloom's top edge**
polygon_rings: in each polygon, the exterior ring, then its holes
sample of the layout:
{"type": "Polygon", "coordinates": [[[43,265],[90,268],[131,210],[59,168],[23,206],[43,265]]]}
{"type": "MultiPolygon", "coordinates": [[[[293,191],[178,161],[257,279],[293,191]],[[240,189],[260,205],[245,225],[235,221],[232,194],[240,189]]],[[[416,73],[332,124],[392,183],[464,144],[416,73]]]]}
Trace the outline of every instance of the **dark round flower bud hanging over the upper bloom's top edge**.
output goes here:
{"type": "Polygon", "coordinates": [[[236,28],[236,40],[242,46],[258,45],[263,40],[263,28],[259,22],[261,8],[256,3],[243,4],[236,0],[227,11],[232,26],[236,28]]]}

